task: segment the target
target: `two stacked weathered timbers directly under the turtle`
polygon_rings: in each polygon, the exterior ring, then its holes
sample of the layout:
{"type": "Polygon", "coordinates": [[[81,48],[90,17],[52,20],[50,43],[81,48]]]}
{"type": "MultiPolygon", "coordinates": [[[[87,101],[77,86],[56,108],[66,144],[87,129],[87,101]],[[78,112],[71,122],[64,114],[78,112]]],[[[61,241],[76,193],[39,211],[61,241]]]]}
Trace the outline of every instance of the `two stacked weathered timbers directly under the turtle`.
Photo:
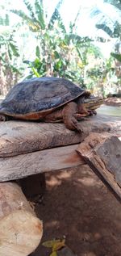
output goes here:
{"type": "Polygon", "coordinates": [[[76,152],[77,144],[90,132],[115,132],[118,136],[121,120],[97,115],[80,125],[82,133],[70,131],[64,124],[1,123],[0,182],[84,164],[76,152]]]}

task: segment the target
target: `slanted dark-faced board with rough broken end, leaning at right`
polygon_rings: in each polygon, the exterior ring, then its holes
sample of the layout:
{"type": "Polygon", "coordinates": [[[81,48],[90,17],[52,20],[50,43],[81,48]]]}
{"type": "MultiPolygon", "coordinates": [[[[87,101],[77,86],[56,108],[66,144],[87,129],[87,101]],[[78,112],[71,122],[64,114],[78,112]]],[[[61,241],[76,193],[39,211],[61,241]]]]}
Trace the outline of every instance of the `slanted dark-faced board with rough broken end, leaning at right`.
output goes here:
{"type": "Polygon", "coordinates": [[[108,132],[90,133],[77,152],[121,199],[121,141],[108,132]]]}

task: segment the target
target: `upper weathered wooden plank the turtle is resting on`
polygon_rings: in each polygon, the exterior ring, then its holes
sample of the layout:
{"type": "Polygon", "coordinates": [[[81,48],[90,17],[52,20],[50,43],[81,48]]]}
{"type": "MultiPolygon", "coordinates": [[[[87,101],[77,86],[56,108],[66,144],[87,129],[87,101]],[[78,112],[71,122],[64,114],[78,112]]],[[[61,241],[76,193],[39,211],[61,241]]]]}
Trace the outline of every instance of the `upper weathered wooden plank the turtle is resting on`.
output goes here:
{"type": "Polygon", "coordinates": [[[121,120],[116,116],[96,115],[80,122],[83,133],[69,131],[64,124],[8,121],[0,124],[0,157],[74,145],[90,132],[121,132],[121,120]]]}

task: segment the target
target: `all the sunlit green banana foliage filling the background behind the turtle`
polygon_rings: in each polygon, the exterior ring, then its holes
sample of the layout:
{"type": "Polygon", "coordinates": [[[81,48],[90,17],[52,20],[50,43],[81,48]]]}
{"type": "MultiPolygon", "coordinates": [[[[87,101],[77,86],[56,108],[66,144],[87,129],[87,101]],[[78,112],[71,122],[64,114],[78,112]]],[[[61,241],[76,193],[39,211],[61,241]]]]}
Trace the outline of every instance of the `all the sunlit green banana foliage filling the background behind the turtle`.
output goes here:
{"type": "MultiPolygon", "coordinates": [[[[119,48],[111,52],[111,58],[106,60],[99,48],[95,46],[95,39],[77,35],[77,19],[81,9],[77,11],[74,22],[69,24],[69,31],[66,31],[60,16],[60,6],[63,0],[58,1],[50,19],[48,19],[43,0],[35,0],[34,4],[28,0],[23,0],[23,2],[27,11],[10,10],[10,12],[21,18],[23,26],[29,28],[28,38],[31,34],[35,40],[36,45],[32,49],[34,57],[30,59],[25,55],[23,61],[30,71],[27,78],[41,76],[69,78],[92,90],[94,94],[103,95],[108,93],[107,87],[110,90],[111,86],[119,86],[119,48]]],[[[105,31],[110,38],[120,40],[120,0],[104,2],[115,6],[117,17],[112,19],[97,6],[90,10],[90,17],[95,20],[98,30],[105,31]]],[[[0,23],[7,27],[9,15],[7,14],[4,20],[1,18],[0,23]]],[[[9,67],[11,73],[20,75],[22,69],[18,69],[17,60],[23,57],[19,56],[19,48],[16,46],[15,29],[0,35],[1,65],[4,73],[9,67]]],[[[103,44],[106,42],[106,39],[102,37],[96,40],[103,44]]]]}

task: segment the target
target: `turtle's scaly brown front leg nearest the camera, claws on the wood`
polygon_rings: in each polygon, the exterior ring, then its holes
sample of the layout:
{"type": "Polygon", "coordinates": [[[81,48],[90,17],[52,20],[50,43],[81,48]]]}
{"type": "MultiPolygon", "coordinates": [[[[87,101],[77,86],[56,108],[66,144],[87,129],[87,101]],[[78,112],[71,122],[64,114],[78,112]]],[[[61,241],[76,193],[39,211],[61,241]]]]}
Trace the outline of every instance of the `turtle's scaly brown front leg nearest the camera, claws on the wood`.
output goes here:
{"type": "Polygon", "coordinates": [[[81,126],[78,124],[77,119],[75,118],[77,111],[77,103],[67,103],[62,111],[63,121],[65,127],[69,130],[77,130],[77,132],[83,132],[81,126]]]}

